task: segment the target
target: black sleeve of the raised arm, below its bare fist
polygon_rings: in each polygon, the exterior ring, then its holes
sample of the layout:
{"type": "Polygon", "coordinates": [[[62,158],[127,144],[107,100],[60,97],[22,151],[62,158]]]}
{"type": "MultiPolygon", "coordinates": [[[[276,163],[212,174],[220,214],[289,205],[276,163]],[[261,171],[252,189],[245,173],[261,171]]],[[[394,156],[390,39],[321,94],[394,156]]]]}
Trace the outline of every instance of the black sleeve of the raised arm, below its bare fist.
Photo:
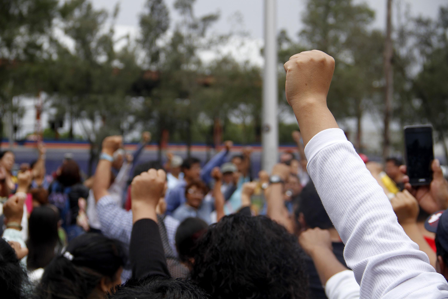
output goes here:
{"type": "Polygon", "coordinates": [[[132,278],[170,277],[159,226],[151,219],[141,219],[132,227],[129,244],[132,278]]]}

